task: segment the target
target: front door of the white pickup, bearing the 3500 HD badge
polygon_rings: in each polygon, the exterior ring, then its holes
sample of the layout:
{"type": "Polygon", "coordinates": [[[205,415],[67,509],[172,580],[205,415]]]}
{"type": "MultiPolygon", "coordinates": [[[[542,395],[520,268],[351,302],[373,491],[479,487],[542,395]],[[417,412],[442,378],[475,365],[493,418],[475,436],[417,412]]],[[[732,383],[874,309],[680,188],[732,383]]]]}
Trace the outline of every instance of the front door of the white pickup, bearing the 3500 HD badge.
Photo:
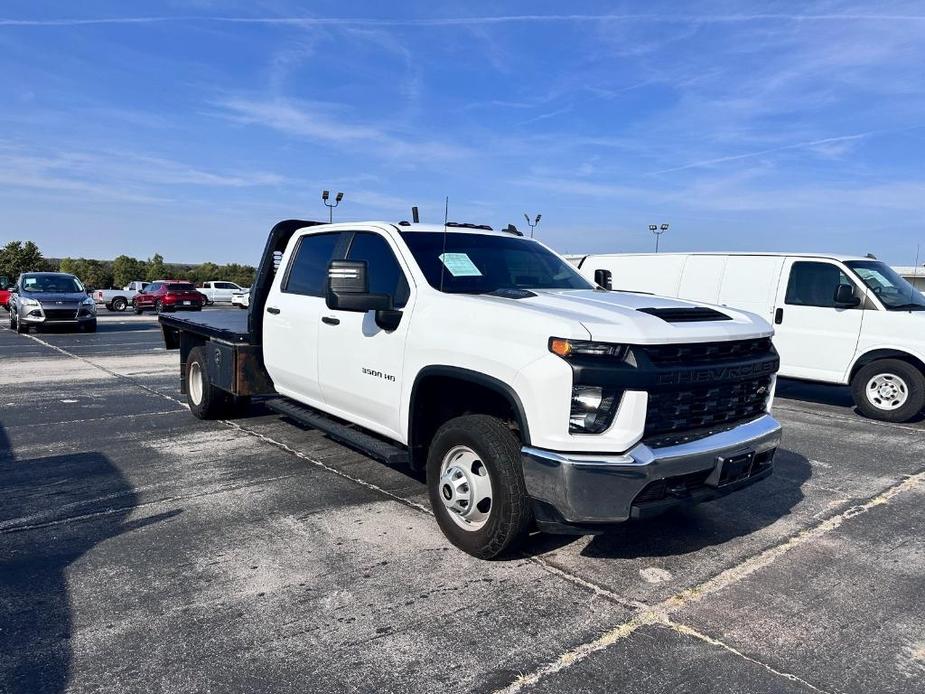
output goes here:
{"type": "Polygon", "coordinates": [[[398,327],[384,330],[376,312],[322,310],[318,375],[326,409],[361,426],[404,440],[401,432],[402,366],[413,304],[408,272],[383,234],[351,234],[347,260],[365,260],[369,291],[390,294],[402,311],[398,327]]]}

